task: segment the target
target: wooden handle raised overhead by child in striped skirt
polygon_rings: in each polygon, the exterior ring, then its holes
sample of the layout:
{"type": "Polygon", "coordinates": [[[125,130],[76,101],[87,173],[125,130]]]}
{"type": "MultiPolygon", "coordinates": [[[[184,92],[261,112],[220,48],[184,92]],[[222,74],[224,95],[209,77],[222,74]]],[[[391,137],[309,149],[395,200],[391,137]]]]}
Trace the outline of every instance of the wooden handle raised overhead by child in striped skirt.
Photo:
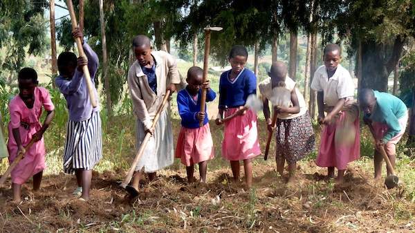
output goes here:
{"type": "MultiPolygon", "coordinates": [[[[68,6],[69,15],[71,15],[72,30],[75,30],[77,28],[77,21],[76,21],[76,16],[75,16],[75,10],[73,10],[72,0],[67,0],[66,5],[68,6]]],[[[82,47],[81,38],[79,37],[75,38],[75,42],[76,42],[80,57],[86,58],[86,55],[84,53],[84,48],[82,47]]],[[[91,100],[92,106],[95,108],[98,104],[93,94],[93,84],[91,81],[91,75],[89,74],[88,66],[82,66],[82,71],[84,72],[86,87],[88,88],[88,92],[89,92],[89,99],[91,100]]]]}

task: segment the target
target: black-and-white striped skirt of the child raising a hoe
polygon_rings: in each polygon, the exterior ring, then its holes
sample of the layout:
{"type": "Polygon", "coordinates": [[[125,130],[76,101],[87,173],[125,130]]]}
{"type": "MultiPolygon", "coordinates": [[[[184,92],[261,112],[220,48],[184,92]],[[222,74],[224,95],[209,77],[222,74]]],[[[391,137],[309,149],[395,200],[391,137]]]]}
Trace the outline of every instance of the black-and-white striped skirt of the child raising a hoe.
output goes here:
{"type": "Polygon", "coordinates": [[[102,158],[102,129],[98,111],[82,122],[68,122],[64,151],[64,171],[91,170],[102,158]]]}

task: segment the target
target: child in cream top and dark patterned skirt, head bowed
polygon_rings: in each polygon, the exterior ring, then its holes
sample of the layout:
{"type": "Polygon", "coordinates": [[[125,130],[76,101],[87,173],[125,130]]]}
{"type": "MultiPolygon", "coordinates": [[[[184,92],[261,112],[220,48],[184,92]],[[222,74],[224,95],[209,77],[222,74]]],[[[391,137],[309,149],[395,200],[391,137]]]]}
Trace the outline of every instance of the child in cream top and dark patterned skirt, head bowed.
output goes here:
{"type": "Polygon", "coordinates": [[[270,77],[259,84],[259,91],[264,102],[264,115],[270,132],[275,128],[270,119],[268,101],[273,105],[273,113],[277,114],[275,161],[281,176],[284,173],[285,161],[288,162],[288,183],[290,183],[294,178],[296,162],[314,149],[314,131],[304,97],[298,91],[296,83],[287,76],[286,64],[275,62],[271,66],[269,75],[270,77]]]}

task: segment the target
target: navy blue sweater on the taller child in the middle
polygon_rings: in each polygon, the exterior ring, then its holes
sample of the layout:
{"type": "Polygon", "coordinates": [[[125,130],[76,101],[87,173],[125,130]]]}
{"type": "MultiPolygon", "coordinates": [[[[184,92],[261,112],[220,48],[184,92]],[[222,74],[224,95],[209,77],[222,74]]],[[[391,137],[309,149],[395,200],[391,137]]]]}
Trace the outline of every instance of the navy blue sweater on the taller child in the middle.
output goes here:
{"type": "Polygon", "coordinates": [[[221,74],[219,81],[219,109],[236,108],[246,103],[248,95],[257,93],[257,77],[255,74],[243,68],[239,75],[230,80],[230,72],[225,71],[221,74]]]}

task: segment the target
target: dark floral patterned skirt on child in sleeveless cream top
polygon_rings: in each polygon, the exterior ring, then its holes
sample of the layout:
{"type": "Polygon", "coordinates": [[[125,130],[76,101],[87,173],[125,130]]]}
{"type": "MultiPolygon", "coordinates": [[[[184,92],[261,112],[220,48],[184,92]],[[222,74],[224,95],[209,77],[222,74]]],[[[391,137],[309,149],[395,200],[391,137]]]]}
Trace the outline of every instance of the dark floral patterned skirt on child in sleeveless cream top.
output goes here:
{"type": "Polygon", "coordinates": [[[313,151],[315,136],[310,115],[306,112],[297,118],[277,119],[277,155],[287,162],[297,162],[313,151]]]}

